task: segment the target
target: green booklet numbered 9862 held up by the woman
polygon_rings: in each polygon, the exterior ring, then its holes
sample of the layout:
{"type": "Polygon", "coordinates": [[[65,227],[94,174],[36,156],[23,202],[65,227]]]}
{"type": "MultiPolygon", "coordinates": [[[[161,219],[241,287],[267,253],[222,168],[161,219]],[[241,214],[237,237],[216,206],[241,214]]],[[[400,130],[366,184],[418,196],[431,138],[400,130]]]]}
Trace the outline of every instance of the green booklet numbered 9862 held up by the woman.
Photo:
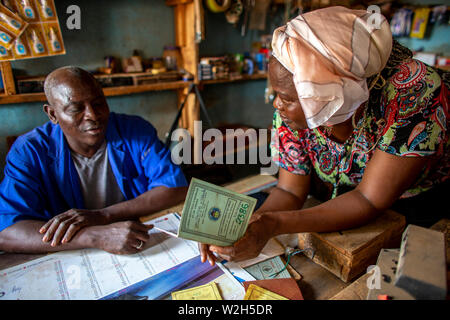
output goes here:
{"type": "Polygon", "coordinates": [[[255,198],[192,178],[178,237],[230,246],[244,235],[255,205],[255,198]]]}

